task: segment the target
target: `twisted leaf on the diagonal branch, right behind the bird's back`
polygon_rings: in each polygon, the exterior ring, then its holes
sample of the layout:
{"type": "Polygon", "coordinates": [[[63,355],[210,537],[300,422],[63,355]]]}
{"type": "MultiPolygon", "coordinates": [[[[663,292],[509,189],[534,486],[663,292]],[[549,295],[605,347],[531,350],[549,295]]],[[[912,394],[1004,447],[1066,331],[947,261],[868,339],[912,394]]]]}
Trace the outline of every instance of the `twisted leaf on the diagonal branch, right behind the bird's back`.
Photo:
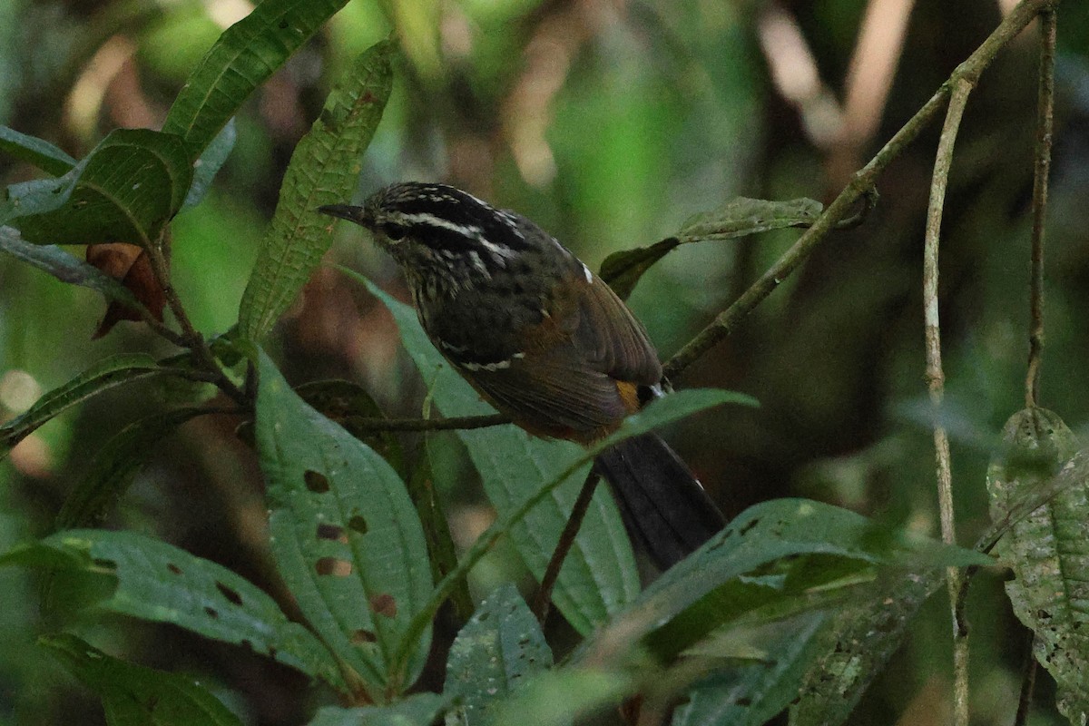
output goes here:
{"type": "Polygon", "coordinates": [[[809,226],[817,221],[822,209],[821,204],[812,199],[769,201],[737,197],[713,212],[701,212],[688,218],[674,237],[649,247],[613,253],[601,262],[601,279],[622,299],[627,299],[639,278],[681,245],[745,237],[788,226],[809,226]]]}

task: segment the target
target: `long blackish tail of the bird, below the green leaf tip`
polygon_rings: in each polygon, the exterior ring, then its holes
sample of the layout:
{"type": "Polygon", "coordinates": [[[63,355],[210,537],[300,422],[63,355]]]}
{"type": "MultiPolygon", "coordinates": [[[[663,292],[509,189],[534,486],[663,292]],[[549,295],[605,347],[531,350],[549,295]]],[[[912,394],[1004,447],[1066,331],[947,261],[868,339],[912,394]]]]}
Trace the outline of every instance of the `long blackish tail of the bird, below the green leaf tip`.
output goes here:
{"type": "Polygon", "coordinates": [[[628,439],[598,456],[624,522],[668,569],[725,527],[725,518],[692,471],[654,433],[628,439]]]}

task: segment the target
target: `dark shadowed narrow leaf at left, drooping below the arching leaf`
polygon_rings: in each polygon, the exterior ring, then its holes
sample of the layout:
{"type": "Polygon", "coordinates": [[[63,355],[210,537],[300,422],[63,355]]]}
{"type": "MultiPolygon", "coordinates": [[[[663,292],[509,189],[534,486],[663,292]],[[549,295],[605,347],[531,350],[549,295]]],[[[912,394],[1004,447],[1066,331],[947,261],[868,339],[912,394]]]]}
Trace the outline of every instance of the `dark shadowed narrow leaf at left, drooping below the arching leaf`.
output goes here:
{"type": "Polygon", "coordinates": [[[157,444],[201,408],[179,408],[130,423],[95,454],[83,479],[69,493],[57,515],[57,529],[99,524],[129,489],[136,472],[155,454],[157,444]]]}

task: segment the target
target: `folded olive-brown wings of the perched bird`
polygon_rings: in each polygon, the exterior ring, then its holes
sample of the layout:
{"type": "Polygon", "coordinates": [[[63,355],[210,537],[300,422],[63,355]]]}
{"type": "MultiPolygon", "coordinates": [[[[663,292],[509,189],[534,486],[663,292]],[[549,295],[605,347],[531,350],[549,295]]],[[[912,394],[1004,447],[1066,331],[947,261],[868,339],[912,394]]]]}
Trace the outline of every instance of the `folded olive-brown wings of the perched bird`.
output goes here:
{"type": "Polygon", "coordinates": [[[502,366],[462,371],[495,406],[538,434],[588,442],[637,407],[635,389],[661,378],[643,325],[600,280],[579,280],[576,295],[540,328],[523,354],[502,366]]]}

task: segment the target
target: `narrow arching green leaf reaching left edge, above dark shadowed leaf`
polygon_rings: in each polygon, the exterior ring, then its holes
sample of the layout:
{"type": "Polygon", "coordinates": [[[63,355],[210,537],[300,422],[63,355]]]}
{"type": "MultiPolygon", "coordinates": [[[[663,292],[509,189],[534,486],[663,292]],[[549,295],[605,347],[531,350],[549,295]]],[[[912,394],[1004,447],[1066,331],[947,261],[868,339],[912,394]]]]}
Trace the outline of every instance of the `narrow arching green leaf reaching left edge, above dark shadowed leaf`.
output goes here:
{"type": "MultiPolygon", "coordinates": [[[[0,234],[0,238],[2,238],[0,234]]],[[[113,356],[99,361],[64,385],[42,395],[21,416],[0,426],[0,459],[42,423],[87,398],[131,381],[162,373],[151,356],[113,356]]]]}

